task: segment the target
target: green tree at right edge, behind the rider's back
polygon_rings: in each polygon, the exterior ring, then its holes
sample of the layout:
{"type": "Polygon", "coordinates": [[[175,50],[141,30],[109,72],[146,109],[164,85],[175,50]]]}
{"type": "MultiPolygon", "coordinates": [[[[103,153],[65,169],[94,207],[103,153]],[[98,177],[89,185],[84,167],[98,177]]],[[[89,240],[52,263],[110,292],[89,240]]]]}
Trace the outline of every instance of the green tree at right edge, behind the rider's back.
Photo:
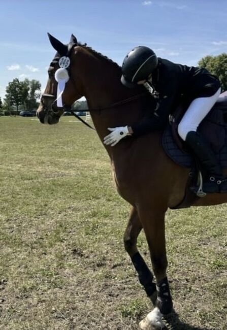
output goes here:
{"type": "Polygon", "coordinates": [[[227,90],[227,53],[217,56],[205,56],[199,61],[201,68],[207,69],[211,74],[217,76],[221,83],[221,89],[227,90]]]}

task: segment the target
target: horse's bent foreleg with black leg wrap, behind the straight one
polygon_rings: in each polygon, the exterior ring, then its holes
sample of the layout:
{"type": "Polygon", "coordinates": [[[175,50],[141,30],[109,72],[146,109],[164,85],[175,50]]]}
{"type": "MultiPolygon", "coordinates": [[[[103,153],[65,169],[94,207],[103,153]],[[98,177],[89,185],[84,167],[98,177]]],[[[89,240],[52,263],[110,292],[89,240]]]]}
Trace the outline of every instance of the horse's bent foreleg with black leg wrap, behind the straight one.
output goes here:
{"type": "Polygon", "coordinates": [[[137,210],[133,207],[124,233],[124,247],[132,259],[138,273],[139,281],[143,285],[153,305],[156,302],[156,285],[153,283],[153,275],[148,269],[146,262],[137,249],[137,238],[142,229],[137,210]]]}

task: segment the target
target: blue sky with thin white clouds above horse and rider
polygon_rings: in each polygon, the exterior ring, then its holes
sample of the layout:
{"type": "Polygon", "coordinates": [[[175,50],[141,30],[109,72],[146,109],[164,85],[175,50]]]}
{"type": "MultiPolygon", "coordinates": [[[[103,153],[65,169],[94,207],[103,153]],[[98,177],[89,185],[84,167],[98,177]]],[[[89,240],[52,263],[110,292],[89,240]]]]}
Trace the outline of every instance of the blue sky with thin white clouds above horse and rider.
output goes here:
{"type": "Polygon", "coordinates": [[[0,96],[16,77],[45,87],[55,54],[47,32],[64,43],[73,33],[120,65],[139,45],[197,65],[227,52],[226,13],[226,0],[0,0],[0,96]]]}

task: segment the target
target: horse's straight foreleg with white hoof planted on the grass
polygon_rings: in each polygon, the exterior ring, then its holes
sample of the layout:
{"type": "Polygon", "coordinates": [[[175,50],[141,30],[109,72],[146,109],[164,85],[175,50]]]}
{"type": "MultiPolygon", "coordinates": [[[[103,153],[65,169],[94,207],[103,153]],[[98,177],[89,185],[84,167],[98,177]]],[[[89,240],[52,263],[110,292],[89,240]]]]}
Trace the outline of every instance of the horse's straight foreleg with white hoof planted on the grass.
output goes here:
{"type": "Polygon", "coordinates": [[[162,314],[170,313],[173,308],[166,274],[168,262],[166,256],[165,211],[154,211],[147,206],[143,206],[139,208],[139,217],[147,238],[152,268],[157,281],[156,308],[140,323],[140,327],[148,329],[153,325],[158,325],[158,328],[161,328],[162,314]]]}

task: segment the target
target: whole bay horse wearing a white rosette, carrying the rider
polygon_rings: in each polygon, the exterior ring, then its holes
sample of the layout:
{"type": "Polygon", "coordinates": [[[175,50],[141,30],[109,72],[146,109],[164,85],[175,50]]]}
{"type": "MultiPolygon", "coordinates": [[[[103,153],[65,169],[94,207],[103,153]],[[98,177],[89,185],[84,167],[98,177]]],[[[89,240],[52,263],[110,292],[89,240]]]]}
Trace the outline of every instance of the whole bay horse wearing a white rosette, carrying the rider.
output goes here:
{"type": "MultiPolygon", "coordinates": [[[[50,63],[49,79],[37,110],[41,123],[57,123],[66,109],[85,96],[93,124],[103,143],[108,127],[132,125],[154,109],[155,102],[143,87],[131,90],[121,84],[121,68],[117,63],[86,44],[78,43],[74,35],[68,45],[48,36],[57,53],[50,63]],[[64,63],[61,68],[68,78],[59,93],[55,73],[62,57],[64,63]],[[60,106],[59,97],[62,101],[60,106]]],[[[114,147],[103,144],[110,157],[117,191],[132,206],[124,233],[124,246],[140,283],[155,306],[140,322],[141,329],[162,328],[161,317],[172,311],[167,280],[165,214],[168,208],[173,208],[183,199],[189,175],[188,169],[178,166],[166,155],[161,136],[162,132],[158,131],[138,138],[126,137],[114,147]],[[156,284],[137,248],[137,238],[142,229],[156,284]]],[[[207,194],[193,205],[226,202],[227,194],[207,194]]]]}

